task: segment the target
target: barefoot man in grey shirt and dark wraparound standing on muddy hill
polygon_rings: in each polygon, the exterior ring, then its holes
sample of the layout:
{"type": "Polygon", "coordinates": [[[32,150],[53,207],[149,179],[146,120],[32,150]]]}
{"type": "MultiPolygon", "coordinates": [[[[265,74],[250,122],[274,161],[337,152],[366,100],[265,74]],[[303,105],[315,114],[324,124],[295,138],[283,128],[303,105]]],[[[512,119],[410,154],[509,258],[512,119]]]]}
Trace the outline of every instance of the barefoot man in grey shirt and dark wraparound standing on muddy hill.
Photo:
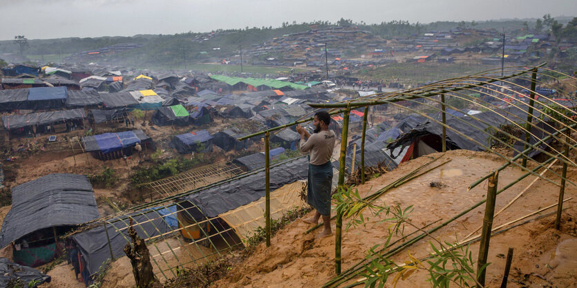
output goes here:
{"type": "Polygon", "coordinates": [[[312,135],[303,126],[296,126],[296,132],[301,134],[301,152],[310,151],[307,202],[316,210],[312,218],[303,221],[316,224],[322,215],[325,229],[316,236],[322,238],[332,234],[330,229],[330,191],[332,188],[330,158],[336,137],[334,131],[328,130],[330,115],[326,111],[316,113],[312,124],[314,125],[312,135]]]}

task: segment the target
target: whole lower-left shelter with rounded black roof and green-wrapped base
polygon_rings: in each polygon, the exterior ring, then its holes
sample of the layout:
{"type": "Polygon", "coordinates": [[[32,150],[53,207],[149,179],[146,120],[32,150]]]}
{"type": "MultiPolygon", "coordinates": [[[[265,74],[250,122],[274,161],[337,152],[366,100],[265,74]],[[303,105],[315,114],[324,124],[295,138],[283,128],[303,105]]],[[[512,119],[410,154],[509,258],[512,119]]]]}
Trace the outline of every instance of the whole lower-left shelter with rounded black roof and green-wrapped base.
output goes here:
{"type": "Polygon", "coordinates": [[[85,175],[50,174],[12,188],[12,208],[0,231],[0,247],[12,244],[14,261],[37,267],[61,255],[60,237],[100,217],[85,175]]]}

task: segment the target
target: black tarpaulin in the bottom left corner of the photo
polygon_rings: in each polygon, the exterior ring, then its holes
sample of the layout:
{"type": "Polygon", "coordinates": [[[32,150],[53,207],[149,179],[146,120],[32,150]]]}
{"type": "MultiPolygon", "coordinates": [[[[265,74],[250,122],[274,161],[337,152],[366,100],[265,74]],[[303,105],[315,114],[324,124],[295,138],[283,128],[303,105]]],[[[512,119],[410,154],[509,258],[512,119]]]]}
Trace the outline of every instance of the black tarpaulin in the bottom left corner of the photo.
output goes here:
{"type": "Polygon", "coordinates": [[[8,287],[9,283],[14,283],[18,279],[21,280],[26,287],[29,287],[28,283],[31,281],[37,281],[36,285],[29,288],[35,288],[37,285],[49,283],[50,280],[52,280],[50,276],[41,273],[37,269],[16,264],[6,258],[0,258],[0,287],[8,287]]]}

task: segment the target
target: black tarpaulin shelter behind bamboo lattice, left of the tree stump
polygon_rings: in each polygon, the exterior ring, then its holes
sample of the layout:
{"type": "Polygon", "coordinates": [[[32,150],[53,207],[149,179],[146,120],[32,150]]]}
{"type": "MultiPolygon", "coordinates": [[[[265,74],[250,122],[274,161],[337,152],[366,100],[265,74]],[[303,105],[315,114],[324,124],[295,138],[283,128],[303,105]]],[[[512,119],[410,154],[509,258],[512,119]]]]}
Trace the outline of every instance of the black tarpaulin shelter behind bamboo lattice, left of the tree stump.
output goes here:
{"type": "Polygon", "coordinates": [[[129,226],[131,219],[134,223],[134,229],[142,239],[171,231],[171,227],[169,227],[164,218],[153,209],[107,220],[109,224],[106,224],[106,230],[108,230],[110,246],[108,246],[108,238],[103,225],[70,236],[82,252],[88,273],[93,275],[102,266],[102,263],[111,258],[111,249],[116,259],[126,256],[123,249],[130,242],[126,227],[129,226]]]}

